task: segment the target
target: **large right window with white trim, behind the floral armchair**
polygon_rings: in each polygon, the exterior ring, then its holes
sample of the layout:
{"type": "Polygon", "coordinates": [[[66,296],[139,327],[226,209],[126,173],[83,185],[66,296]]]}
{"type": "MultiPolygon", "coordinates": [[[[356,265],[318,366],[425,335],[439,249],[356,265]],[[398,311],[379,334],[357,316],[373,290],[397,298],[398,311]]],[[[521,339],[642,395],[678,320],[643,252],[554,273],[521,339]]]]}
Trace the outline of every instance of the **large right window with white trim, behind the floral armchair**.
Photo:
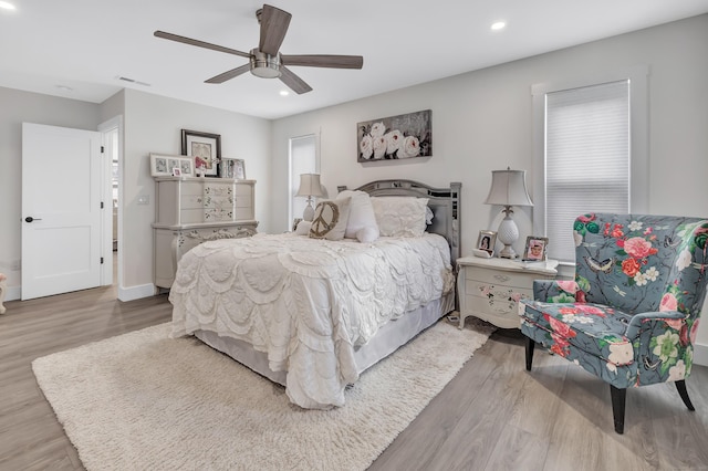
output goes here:
{"type": "Polygon", "coordinates": [[[533,185],[534,232],[549,238],[550,258],[574,262],[572,224],[579,214],[646,210],[643,91],[646,73],[533,87],[540,176],[533,185]]]}

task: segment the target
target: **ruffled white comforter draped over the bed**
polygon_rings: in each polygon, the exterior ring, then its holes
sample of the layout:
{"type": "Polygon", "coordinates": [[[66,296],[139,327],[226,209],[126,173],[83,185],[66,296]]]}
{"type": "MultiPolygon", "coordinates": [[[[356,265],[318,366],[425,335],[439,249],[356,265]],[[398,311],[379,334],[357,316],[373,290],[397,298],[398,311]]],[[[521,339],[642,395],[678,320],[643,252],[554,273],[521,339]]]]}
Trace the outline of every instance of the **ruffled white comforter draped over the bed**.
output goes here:
{"type": "Polygon", "coordinates": [[[288,234],[205,242],[179,261],[173,336],[198,329],[246,341],[287,370],[290,400],[344,405],[358,378],[354,347],[379,326],[454,287],[439,236],[374,243],[288,234]]]}

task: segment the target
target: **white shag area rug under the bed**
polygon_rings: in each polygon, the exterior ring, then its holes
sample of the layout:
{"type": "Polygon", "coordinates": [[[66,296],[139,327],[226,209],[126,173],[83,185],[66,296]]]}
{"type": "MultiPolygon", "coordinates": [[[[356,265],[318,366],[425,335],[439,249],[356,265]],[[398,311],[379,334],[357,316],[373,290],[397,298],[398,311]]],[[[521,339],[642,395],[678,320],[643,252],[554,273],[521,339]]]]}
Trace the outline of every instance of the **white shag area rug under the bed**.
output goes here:
{"type": "Polygon", "coordinates": [[[87,470],[363,470],[492,328],[438,322],[363,373],[346,405],[284,388],[169,323],[38,358],[37,380],[87,470]]]}

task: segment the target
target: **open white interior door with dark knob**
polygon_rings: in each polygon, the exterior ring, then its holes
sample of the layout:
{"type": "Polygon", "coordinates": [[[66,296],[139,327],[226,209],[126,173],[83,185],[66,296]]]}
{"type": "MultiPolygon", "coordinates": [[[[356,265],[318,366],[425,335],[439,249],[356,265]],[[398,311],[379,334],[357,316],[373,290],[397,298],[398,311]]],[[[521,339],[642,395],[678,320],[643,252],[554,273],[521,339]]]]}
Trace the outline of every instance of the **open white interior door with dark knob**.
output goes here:
{"type": "Polygon", "coordinates": [[[101,133],[22,124],[22,300],[101,282],[101,133]]]}

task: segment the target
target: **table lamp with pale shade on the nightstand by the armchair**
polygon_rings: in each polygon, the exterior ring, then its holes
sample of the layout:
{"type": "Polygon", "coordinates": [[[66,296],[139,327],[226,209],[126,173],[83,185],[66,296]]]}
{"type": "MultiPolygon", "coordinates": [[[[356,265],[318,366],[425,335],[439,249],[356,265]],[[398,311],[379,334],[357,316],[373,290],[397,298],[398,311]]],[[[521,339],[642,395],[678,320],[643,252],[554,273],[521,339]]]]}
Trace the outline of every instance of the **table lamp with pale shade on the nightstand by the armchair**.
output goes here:
{"type": "Polygon", "coordinates": [[[507,167],[506,170],[492,170],[491,188],[485,205],[503,206],[503,212],[507,214],[499,224],[497,237],[504,248],[499,252],[499,257],[503,259],[516,259],[517,252],[513,250],[513,243],[519,240],[519,228],[511,219],[513,211],[512,206],[533,206],[529,192],[527,191],[527,172],[524,170],[512,170],[507,167]]]}

